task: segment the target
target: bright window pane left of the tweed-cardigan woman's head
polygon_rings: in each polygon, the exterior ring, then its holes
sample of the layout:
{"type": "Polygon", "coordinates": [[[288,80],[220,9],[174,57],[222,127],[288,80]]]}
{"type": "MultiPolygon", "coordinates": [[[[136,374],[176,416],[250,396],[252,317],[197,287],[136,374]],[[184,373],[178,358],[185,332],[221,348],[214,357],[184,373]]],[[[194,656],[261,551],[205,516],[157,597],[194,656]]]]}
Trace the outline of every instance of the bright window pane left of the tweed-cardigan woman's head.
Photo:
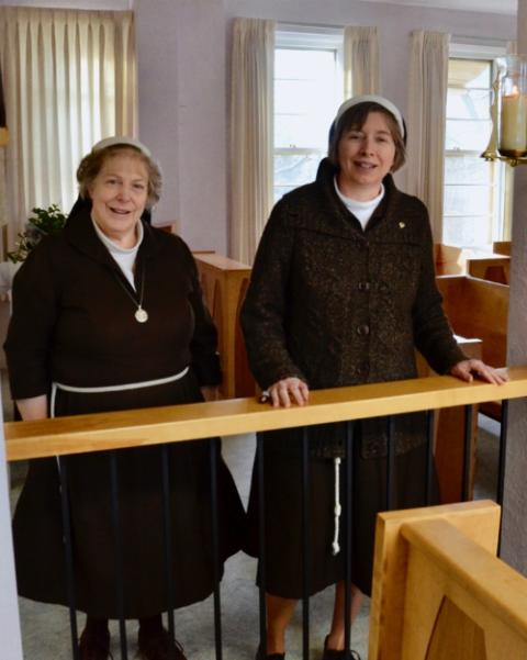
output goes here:
{"type": "Polygon", "coordinates": [[[343,31],[279,30],[274,47],[274,201],[313,181],[344,98],[343,31]]]}

